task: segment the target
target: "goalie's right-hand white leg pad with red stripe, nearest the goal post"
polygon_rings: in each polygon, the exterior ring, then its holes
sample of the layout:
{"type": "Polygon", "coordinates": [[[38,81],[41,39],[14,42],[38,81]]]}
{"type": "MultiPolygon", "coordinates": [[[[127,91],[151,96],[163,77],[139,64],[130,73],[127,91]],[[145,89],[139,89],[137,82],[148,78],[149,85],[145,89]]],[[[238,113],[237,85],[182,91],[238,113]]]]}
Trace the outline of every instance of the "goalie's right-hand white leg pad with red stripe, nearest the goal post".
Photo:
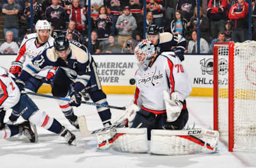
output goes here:
{"type": "Polygon", "coordinates": [[[219,132],[206,129],[152,130],[150,152],[159,155],[213,153],[219,132]]]}

